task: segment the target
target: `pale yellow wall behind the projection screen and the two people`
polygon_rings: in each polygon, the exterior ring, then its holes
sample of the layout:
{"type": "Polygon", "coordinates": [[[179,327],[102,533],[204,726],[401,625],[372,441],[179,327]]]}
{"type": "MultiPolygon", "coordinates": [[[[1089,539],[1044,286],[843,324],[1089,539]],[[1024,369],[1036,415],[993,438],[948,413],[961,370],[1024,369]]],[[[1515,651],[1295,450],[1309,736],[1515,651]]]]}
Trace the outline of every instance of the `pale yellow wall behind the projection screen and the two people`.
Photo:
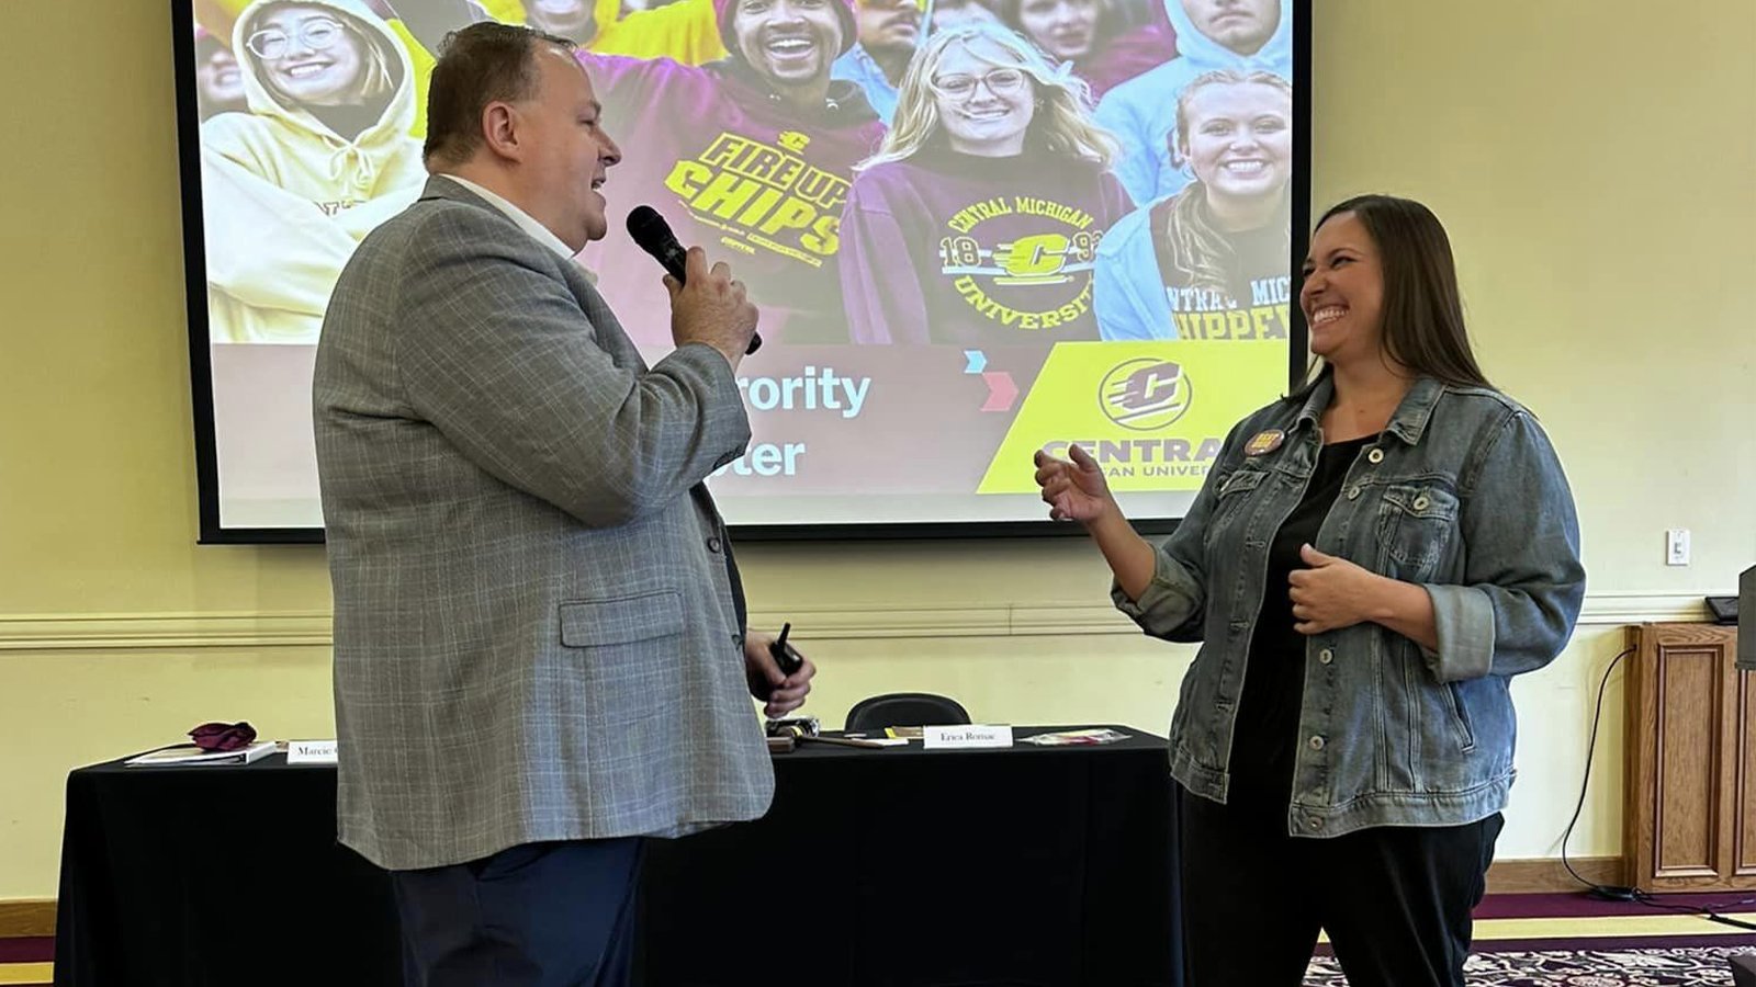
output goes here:
{"type": "MultiPolygon", "coordinates": [[[[1756,562],[1756,5],[1317,7],[1315,200],[1438,211],[1487,372],[1579,495],[1587,618],[1517,683],[1501,843],[1554,855],[1617,625],[1696,613],[1756,562]],[[1666,527],[1693,529],[1695,566],[1661,564],[1666,527]]],[[[0,60],[0,899],[54,894],[70,767],[209,718],[332,731],[321,550],[195,544],[169,4],[88,11],[32,7],[0,60]]],[[[982,718],[1162,731],[1191,657],[1126,634],[1076,541],[741,558],[757,618],[794,620],[824,666],[831,724],[908,687],[982,718]]],[[[1619,845],[1614,685],[1608,708],[1582,855],[1619,845]]]]}

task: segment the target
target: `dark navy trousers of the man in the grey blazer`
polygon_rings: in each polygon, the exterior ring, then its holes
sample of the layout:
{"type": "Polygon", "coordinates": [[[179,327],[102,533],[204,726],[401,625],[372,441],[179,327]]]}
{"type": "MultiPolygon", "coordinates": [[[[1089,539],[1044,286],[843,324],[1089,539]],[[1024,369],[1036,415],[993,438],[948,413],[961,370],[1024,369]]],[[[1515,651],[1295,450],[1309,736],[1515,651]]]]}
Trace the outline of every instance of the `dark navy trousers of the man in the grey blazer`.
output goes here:
{"type": "Polygon", "coordinates": [[[392,871],[406,987],[623,987],[643,841],[529,843],[392,871]]]}

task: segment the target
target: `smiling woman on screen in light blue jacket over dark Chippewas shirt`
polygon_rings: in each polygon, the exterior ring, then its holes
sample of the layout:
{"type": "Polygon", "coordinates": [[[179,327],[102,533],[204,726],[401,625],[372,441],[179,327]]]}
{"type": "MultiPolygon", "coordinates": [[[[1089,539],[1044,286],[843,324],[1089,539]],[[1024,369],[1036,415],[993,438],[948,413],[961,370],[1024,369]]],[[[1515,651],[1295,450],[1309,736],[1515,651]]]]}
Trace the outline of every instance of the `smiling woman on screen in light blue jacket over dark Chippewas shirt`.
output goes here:
{"type": "Polygon", "coordinates": [[[1284,342],[1292,86],[1268,72],[1208,72],[1178,97],[1173,139],[1196,181],[1124,216],[1098,248],[1098,330],[1284,342]]]}

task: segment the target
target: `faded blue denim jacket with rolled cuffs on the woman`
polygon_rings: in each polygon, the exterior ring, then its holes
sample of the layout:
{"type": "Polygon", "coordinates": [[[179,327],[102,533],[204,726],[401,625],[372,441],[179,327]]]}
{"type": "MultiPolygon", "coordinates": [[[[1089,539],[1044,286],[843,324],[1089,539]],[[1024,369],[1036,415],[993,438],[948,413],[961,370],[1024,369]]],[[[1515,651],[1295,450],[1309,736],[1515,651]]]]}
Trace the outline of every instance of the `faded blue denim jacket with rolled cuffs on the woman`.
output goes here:
{"type": "MultiPolygon", "coordinates": [[[[1333,386],[1240,421],[1187,518],[1157,550],[1138,601],[1112,595],[1147,634],[1203,641],[1171,720],[1171,774],[1226,801],[1243,671],[1268,546],[1322,446],[1333,386]],[[1247,455],[1282,430],[1280,448],[1247,455]]],[[[1378,623],[1306,638],[1305,701],[1287,829],[1459,825],[1505,808],[1517,734],[1514,674],[1566,646],[1586,594],[1566,476],[1536,420],[1505,395],[1422,378],[1366,446],[1315,548],[1422,585],[1438,650],[1378,623]]],[[[1292,606],[1287,602],[1287,606],[1292,606]]]]}

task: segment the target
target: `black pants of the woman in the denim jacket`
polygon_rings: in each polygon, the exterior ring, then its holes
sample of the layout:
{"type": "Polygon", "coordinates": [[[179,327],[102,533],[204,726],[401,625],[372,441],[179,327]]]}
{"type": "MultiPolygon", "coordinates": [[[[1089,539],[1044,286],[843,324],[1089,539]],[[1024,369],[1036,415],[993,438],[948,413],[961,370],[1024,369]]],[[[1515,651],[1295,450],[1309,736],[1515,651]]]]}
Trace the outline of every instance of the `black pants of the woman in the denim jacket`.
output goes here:
{"type": "Polygon", "coordinates": [[[1177,797],[1191,987],[1299,987],[1319,929],[1352,987],[1463,987],[1500,813],[1310,839],[1284,813],[1177,797]]]}

